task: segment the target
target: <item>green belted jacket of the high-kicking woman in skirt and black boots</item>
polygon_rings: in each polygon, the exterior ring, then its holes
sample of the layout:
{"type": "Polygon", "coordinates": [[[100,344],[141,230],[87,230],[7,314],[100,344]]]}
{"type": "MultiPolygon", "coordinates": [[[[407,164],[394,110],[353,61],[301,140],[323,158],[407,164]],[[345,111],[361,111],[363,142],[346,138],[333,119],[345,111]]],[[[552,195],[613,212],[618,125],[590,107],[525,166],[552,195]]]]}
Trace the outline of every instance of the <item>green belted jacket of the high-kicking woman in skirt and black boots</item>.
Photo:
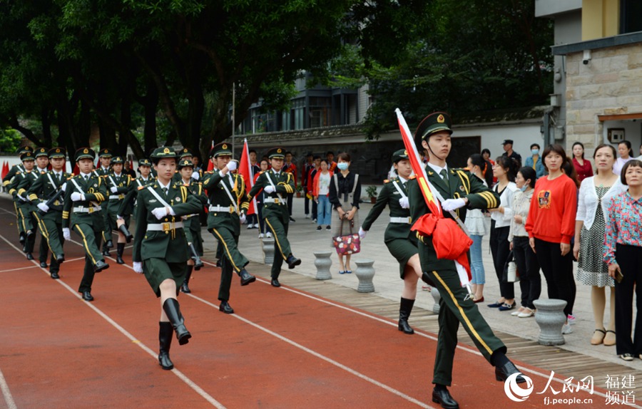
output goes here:
{"type": "Polygon", "coordinates": [[[167,197],[158,182],[138,191],[136,204],[136,233],[134,233],[133,261],[143,262],[147,259],[164,259],[168,263],[187,262],[190,258],[188,242],[184,229],[168,229],[167,231],[148,230],[149,224],[168,224],[181,222],[180,217],[200,211],[199,200],[190,193],[187,187],[170,182],[167,197]],[[164,205],[149,191],[155,190],[160,197],[173,209],[175,216],[165,216],[156,219],[151,212],[156,207],[164,205]]]}

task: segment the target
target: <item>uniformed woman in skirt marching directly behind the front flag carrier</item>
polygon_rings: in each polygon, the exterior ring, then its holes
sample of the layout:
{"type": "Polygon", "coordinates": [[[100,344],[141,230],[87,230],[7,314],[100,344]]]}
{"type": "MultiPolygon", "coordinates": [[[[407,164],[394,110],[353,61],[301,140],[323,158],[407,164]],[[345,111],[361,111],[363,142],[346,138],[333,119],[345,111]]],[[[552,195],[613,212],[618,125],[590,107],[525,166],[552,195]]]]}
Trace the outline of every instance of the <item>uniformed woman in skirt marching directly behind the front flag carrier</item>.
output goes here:
{"type": "Polygon", "coordinates": [[[384,234],[384,243],[390,254],[399,262],[399,276],[404,280],[401,304],[399,306],[399,331],[412,334],[408,318],[417,297],[417,280],[422,277],[422,266],[417,253],[417,236],[410,231],[410,204],[408,202],[407,182],[412,174],[407,150],[397,150],[392,154],[394,170],[399,177],[385,180],[370,213],[365,218],[359,235],[363,239],[372,223],[384,211],[390,209],[390,222],[384,234]]]}

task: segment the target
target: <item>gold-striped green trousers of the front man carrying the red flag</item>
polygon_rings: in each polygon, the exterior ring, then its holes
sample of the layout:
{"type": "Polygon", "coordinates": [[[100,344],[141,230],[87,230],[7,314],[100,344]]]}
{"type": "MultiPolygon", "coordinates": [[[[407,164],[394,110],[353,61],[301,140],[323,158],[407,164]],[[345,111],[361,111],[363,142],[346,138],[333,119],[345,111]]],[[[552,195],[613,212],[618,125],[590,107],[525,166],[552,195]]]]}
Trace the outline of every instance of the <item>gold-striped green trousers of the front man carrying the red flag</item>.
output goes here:
{"type": "Polygon", "coordinates": [[[428,271],[428,275],[442,295],[439,299],[439,341],[432,383],[450,386],[459,323],[462,323],[481,355],[489,362],[495,351],[506,353],[506,346],[481,316],[477,304],[472,299],[465,299],[468,294],[459,281],[457,270],[428,271]]]}

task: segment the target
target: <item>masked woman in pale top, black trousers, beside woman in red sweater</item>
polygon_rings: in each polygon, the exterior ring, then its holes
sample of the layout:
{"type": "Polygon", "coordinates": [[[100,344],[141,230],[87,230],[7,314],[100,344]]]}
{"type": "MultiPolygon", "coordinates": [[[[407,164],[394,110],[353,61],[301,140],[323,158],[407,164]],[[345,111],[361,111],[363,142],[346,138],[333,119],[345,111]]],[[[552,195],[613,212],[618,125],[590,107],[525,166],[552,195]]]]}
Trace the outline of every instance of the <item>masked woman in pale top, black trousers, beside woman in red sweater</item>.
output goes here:
{"type": "Polygon", "coordinates": [[[532,167],[522,167],[515,177],[515,185],[519,190],[514,193],[511,203],[513,218],[511,219],[509,242],[519,271],[519,289],[521,290],[521,307],[511,315],[519,318],[535,315],[533,301],[539,299],[539,294],[541,294],[539,262],[537,262],[533,249],[529,246],[529,234],[524,229],[531,207],[535,179],[536,172],[532,167]]]}

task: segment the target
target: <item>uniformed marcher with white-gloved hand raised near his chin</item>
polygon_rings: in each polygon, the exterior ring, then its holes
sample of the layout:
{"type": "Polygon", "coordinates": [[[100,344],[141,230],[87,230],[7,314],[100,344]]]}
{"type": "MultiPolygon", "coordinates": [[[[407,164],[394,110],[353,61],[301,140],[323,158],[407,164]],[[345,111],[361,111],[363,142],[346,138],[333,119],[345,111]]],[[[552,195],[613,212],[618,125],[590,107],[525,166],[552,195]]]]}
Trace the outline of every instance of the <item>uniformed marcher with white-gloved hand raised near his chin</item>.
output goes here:
{"type": "Polygon", "coordinates": [[[240,225],[245,221],[245,211],[248,209],[245,196],[245,181],[236,170],[236,162],[232,160],[231,145],[219,143],[212,148],[210,156],[214,159],[218,170],[208,172],[203,177],[203,189],[208,191],[210,211],[208,213],[208,231],[218,239],[223,246],[221,257],[220,286],[218,288],[219,311],[233,314],[229,304],[232,272],[240,276],[240,283],[246,286],[256,280],[256,277],[245,270],[249,260],[238,250],[240,225]]]}

